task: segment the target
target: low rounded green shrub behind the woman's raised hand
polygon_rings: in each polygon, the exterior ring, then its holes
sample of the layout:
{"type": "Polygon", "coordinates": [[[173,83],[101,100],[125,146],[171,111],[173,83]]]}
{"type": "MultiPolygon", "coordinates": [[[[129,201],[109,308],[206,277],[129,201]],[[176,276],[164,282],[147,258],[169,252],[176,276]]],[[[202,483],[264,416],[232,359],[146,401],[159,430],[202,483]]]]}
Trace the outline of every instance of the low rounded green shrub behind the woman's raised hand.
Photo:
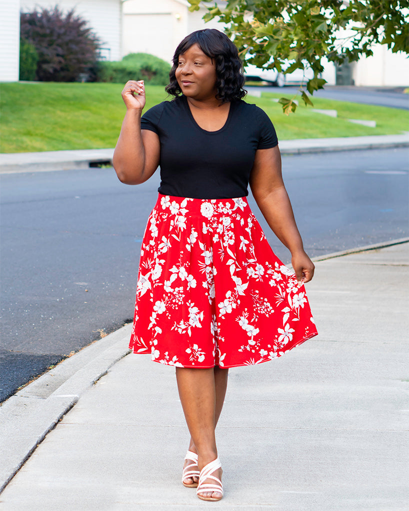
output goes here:
{"type": "Polygon", "coordinates": [[[150,85],[169,83],[170,64],[148,53],[129,53],[120,62],[99,62],[98,82],[126,83],[145,80],[150,85]]]}

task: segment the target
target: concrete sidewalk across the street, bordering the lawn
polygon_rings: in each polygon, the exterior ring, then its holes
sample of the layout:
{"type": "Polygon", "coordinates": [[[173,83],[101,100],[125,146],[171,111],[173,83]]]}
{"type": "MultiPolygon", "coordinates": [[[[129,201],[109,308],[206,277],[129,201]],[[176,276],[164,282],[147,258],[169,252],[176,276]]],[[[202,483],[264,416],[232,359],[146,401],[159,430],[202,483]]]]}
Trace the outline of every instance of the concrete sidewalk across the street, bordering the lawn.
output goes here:
{"type": "MultiPolygon", "coordinates": [[[[409,133],[401,135],[350,136],[338,138],[305,138],[280,141],[281,154],[303,154],[355,149],[409,147],[409,133]]],[[[113,149],[78,151],[46,151],[0,154],[0,174],[14,172],[46,172],[88,169],[90,165],[110,164],[113,149]]]]}

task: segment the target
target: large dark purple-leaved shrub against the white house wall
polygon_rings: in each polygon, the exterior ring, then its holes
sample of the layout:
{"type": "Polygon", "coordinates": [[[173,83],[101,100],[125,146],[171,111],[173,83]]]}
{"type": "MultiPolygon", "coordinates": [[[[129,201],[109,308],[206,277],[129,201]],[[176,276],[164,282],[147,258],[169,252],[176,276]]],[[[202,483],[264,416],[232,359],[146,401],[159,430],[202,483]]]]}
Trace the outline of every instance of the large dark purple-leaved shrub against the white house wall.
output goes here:
{"type": "Polygon", "coordinates": [[[22,12],[20,34],[38,53],[38,80],[73,82],[98,59],[99,39],[74,9],[66,14],[58,6],[22,12]]]}

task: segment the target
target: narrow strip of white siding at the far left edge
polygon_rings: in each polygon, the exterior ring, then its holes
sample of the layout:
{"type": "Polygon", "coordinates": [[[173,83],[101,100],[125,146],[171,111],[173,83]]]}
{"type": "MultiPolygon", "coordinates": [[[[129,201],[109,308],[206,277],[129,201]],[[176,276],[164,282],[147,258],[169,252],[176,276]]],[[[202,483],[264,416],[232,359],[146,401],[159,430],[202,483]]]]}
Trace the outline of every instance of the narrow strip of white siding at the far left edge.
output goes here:
{"type": "Polygon", "coordinates": [[[20,2],[0,2],[0,81],[18,81],[20,54],[20,2]]]}

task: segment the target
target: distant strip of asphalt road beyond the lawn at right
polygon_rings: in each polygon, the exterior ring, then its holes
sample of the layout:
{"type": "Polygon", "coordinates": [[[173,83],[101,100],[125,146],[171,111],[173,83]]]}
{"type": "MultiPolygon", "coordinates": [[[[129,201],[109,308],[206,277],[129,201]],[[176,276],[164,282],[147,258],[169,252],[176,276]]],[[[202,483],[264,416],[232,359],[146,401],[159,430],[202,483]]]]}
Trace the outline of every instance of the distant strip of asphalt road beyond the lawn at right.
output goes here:
{"type": "MultiPolygon", "coordinates": [[[[282,92],[283,95],[296,94],[299,87],[246,87],[264,92],[282,92]]],[[[352,85],[327,85],[316,90],[313,97],[363,103],[367,105],[387,106],[409,110],[409,94],[403,94],[403,87],[354,87],[352,85]]]]}

